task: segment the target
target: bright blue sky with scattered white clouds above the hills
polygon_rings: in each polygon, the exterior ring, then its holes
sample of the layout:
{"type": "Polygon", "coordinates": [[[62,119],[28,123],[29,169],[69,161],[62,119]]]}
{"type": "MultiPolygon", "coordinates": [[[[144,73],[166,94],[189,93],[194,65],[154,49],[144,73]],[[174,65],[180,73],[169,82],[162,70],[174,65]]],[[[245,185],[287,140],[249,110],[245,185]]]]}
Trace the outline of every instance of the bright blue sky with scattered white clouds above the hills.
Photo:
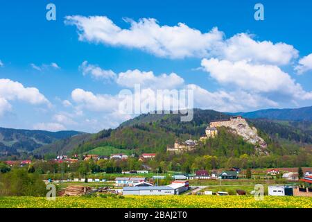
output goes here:
{"type": "Polygon", "coordinates": [[[1,3],[0,126],[116,127],[133,83],[225,112],[311,105],[311,1],[259,2],[264,21],[251,0],[1,3]]]}

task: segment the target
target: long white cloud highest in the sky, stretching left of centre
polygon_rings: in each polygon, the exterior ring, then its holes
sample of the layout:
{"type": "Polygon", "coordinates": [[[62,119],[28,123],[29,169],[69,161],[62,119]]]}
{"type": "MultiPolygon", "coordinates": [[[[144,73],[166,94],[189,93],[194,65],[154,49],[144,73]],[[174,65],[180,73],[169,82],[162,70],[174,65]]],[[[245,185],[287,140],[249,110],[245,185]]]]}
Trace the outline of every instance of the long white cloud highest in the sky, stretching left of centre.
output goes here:
{"type": "Polygon", "coordinates": [[[130,23],[129,29],[116,26],[105,16],[65,17],[65,24],[77,26],[79,40],[141,49],[160,57],[207,56],[209,49],[223,39],[223,33],[218,28],[201,33],[183,23],[160,26],[156,19],[126,21],[130,23]]]}

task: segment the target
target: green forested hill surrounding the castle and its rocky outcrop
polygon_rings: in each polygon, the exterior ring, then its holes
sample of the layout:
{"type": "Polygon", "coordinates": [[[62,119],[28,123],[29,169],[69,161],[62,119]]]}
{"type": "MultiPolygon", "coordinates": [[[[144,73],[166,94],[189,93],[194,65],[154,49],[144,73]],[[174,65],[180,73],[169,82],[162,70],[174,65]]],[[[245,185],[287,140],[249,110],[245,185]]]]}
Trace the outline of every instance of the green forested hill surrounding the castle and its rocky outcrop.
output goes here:
{"type": "MultiPolygon", "coordinates": [[[[194,110],[193,121],[182,122],[180,117],[180,114],[141,114],[139,117],[121,124],[115,130],[103,130],[94,135],[92,139],[73,149],[73,153],[86,153],[98,146],[110,146],[121,151],[131,150],[137,154],[144,152],[164,153],[167,146],[173,146],[175,139],[181,141],[190,138],[199,139],[201,135],[205,134],[205,128],[211,120],[226,119],[229,118],[229,115],[214,110],[197,109],[194,110]]],[[[288,147],[284,148],[279,144],[281,139],[288,141],[288,144],[294,144],[297,148],[303,143],[312,144],[309,130],[299,130],[295,126],[286,126],[284,123],[263,119],[257,119],[257,121],[250,119],[248,121],[256,126],[261,137],[266,139],[270,150],[275,154],[282,155],[288,152],[288,147]]],[[[248,144],[230,134],[227,130],[223,130],[220,141],[213,143],[214,146],[210,150],[224,147],[224,150],[231,149],[231,153],[235,153],[235,155],[241,151],[250,153],[248,144]]],[[[211,151],[211,153],[215,152],[211,151]]]]}

